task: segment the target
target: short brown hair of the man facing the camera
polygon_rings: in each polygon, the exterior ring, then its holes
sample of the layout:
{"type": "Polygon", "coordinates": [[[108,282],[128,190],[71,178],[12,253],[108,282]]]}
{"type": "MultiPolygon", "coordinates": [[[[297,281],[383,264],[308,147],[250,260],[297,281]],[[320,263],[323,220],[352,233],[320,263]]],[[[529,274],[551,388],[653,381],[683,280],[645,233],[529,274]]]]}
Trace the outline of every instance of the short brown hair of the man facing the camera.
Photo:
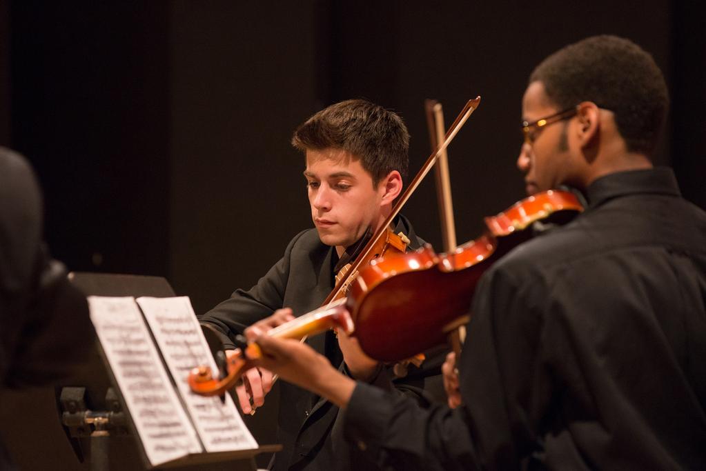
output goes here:
{"type": "Polygon", "coordinates": [[[400,116],[364,99],[328,106],[294,131],[292,145],[307,149],[342,149],[361,160],[377,186],[393,170],[407,178],[409,133],[400,116]]]}

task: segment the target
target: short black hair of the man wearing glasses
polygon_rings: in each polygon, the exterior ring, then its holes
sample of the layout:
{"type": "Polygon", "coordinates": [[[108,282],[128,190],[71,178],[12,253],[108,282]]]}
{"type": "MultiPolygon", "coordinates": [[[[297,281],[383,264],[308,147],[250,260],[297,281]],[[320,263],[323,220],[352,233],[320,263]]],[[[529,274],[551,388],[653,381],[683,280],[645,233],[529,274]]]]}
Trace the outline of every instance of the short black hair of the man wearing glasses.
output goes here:
{"type": "Polygon", "coordinates": [[[652,56],[634,42],[602,35],[570,44],[530,75],[559,109],[590,101],[613,111],[628,152],[651,154],[669,108],[669,93],[652,56]]]}

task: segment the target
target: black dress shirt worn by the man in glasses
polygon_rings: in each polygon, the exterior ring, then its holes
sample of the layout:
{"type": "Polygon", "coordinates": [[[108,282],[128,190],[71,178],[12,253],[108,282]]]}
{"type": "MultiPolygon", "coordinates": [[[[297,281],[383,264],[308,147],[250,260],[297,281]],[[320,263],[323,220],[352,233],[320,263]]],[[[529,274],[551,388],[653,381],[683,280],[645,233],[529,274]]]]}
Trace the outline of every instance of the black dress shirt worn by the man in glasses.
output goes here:
{"type": "Polygon", "coordinates": [[[347,438],[400,470],[706,469],[706,214],[614,173],[481,279],[462,407],[357,385],[347,438]]]}

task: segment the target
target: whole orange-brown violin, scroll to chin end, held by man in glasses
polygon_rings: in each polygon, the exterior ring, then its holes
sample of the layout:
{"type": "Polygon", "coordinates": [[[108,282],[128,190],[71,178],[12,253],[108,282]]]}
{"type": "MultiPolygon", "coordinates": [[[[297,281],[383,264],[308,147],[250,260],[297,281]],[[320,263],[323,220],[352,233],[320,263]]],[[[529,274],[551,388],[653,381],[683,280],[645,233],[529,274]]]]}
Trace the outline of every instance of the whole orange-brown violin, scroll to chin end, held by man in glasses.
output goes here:
{"type": "MultiPolygon", "coordinates": [[[[397,362],[444,343],[449,331],[468,321],[481,275],[493,262],[531,238],[537,221],[562,224],[583,207],[573,193],[550,190],[485,218],[486,231],[456,250],[436,254],[430,245],[416,252],[373,260],[349,283],[347,295],[330,305],[277,326],[268,335],[302,338],[331,328],[358,339],[375,360],[397,362]]],[[[242,342],[226,360],[227,377],[215,379],[208,367],[189,373],[195,393],[224,393],[261,357],[257,343],[242,342]]]]}

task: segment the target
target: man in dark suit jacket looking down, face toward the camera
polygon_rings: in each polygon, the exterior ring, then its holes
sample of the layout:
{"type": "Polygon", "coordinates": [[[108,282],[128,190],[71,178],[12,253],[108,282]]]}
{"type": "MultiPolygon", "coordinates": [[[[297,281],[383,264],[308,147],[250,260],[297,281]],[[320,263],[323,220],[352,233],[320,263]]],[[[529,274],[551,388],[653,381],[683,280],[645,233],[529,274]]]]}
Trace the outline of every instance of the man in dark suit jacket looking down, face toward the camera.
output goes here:
{"type": "MultiPolygon", "coordinates": [[[[381,106],[349,100],[318,112],[294,133],[292,144],[306,154],[306,188],[311,219],[316,226],[297,234],[285,255],[250,290],[232,297],[200,317],[220,331],[226,348],[233,336],[256,323],[267,330],[292,312],[304,314],[321,305],[335,286],[335,268],[348,247],[367,231],[375,231],[390,215],[407,173],[409,134],[402,119],[381,106]],[[277,321],[265,319],[275,310],[277,321]],[[263,320],[265,319],[265,320],[263,320]]],[[[409,249],[421,245],[409,221],[400,216],[393,232],[403,233],[409,249]]],[[[410,374],[395,379],[388,368],[361,353],[354,340],[332,331],[311,336],[306,343],[340,366],[345,377],[395,387],[413,396],[421,394],[424,378],[410,374]]],[[[438,365],[437,365],[438,368],[438,365]]],[[[415,370],[419,374],[426,374],[415,370]]],[[[273,374],[263,367],[244,374],[237,387],[241,409],[249,413],[263,405],[273,374]]],[[[276,470],[357,469],[345,441],[337,444],[334,429],[338,408],[292,384],[282,384],[278,441],[283,450],[275,457],[276,470]]]]}

